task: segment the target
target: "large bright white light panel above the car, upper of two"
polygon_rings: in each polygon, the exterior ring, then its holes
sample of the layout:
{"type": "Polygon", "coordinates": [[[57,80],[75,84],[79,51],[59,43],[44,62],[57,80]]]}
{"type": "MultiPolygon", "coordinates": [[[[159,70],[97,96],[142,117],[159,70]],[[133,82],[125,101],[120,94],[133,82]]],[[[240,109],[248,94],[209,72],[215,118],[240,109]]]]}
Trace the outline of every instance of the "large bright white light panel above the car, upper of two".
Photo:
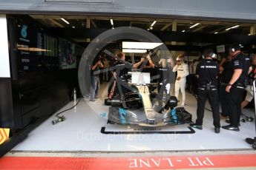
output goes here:
{"type": "Polygon", "coordinates": [[[122,41],[122,48],[151,50],[162,44],[163,43],[122,41]]]}

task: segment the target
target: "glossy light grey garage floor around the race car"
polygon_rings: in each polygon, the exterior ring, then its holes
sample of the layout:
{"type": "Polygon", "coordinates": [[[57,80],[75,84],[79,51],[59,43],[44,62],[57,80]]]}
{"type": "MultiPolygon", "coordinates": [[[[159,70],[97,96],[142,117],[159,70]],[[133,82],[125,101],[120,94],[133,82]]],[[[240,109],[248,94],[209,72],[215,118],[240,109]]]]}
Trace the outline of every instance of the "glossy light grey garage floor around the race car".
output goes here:
{"type": "MultiPolygon", "coordinates": [[[[102,88],[102,92],[106,92],[102,88]]],[[[196,119],[197,101],[194,96],[187,93],[186,110],[196,119]]],[[[188,134],[103,134],[105,132],[137,132],[137,131],[161,131],[178,132],[186,131],[188,124],[180,126],[167,126],[157,129],[137,129],[119,125],[107,125],[108,106],[104,106],[105,94],[97,102],[90,102],[88,98],[82,98],[78,106],[68,112],[64,112],[66,120],[52,125],[54,115],[34,129],[28,137],[16,146],[13,151],[99,151],[99,152],[134,152],[134,151],[194,151],[211,149],[252,149],[245,142],[246,137],[255,137],[255,122],[241,123],[240,132],[220,129],[220,134],[214,133],[211,112],[205,110],[203,130],[194,129],[195,133],[188,134]]],[[[180,104],[180,103],[179,103],[180,104]]],[[[73,106],[68,103],[60,111],[73,106]]],[[[209,104],[206,108],[210,109],[209,104]]],[[[253,109],[243,109],[243,113],[253,116],[253,109]]],[[[222,125],[226,125],[221,120],[222,125]]]]}

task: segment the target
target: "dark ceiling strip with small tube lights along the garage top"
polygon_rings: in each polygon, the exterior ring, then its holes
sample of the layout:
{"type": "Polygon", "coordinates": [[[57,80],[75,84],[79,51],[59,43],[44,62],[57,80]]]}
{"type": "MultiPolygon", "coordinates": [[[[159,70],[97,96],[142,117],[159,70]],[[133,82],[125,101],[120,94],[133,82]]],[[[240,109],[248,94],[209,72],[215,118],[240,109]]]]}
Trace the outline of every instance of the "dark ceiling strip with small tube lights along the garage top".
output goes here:
{"type": "MultiPolygon", "coordinates": [[[[44,24],[46,27],[86,27],[86,20],[90,18],[91,28],[111,29],[110,16],[45,16],[30,15],[32,18],[44,24]],[[65,18],[70,24],[66,24],[61,18],[65,18]]],[[[240,23],[228,21],[199,21],[199,20],[182,20],[172,18],[135,18],[135,17],[112,17],[114,27],[140,27],[147,30],[151,27],[153,21],[154,30],[171,30],[173,21],[177,21],[177,31],[185,30],[188,33],[232,33],[245,34],[250,33],[250,27],[255,23],[240,23]],[[189,28],[193,24],[200,23],[196,27],[189,28]],[[226,28],[239,25],[239,27],[226,30],[226,28]]]]}

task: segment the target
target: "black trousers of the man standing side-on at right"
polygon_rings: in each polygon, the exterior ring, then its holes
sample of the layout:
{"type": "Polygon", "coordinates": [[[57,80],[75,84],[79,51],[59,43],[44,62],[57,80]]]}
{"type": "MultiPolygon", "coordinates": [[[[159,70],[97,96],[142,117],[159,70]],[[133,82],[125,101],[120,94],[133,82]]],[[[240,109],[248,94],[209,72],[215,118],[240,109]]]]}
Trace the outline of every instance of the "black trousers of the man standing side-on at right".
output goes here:
{"type": "Polygon", "coordinates": [[[229,115],[230,125],[238,127],[241,115],[241,103],[243,102],[244,89],[232,86],[230,92],[228,92],[228,103],[231,111],[229,115]]]}

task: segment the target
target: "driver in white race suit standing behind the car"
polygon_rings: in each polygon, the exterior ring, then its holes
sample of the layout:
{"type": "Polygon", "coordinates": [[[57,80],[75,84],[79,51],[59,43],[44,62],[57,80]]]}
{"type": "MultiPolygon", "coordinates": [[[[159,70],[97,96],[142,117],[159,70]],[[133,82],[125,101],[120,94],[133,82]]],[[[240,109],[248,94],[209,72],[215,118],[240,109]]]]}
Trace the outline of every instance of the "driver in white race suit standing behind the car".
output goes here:
{"type": "Polygon", "coordinates": [[[175,96],[178,99],[179,92],[181,91],[183,95],[183,102],[181,103],[181,106],[185,106],[186,101],[186,76],[189,74],[188,71],[188,64],[185,64],[184,62],[184,55],[180,54],[177,56],[177,64],[172,69],[173,72],[177,72],[177,78],[175,82],[175,96]]]}

